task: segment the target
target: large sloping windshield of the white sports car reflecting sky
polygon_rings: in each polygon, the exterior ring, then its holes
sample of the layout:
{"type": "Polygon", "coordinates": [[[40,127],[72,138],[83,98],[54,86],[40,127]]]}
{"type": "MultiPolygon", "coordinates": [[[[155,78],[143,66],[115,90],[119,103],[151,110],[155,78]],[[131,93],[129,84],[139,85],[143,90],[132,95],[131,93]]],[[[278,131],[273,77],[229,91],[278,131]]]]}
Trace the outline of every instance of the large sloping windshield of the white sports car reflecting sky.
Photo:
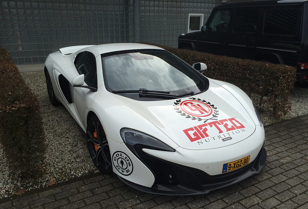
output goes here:
{"type": "Polygon", "coordinates": [[[205,90],[205,77],[169,52],[150,51],[102,55],[108,91],[145,89],[180,95],[205,90]]]}

